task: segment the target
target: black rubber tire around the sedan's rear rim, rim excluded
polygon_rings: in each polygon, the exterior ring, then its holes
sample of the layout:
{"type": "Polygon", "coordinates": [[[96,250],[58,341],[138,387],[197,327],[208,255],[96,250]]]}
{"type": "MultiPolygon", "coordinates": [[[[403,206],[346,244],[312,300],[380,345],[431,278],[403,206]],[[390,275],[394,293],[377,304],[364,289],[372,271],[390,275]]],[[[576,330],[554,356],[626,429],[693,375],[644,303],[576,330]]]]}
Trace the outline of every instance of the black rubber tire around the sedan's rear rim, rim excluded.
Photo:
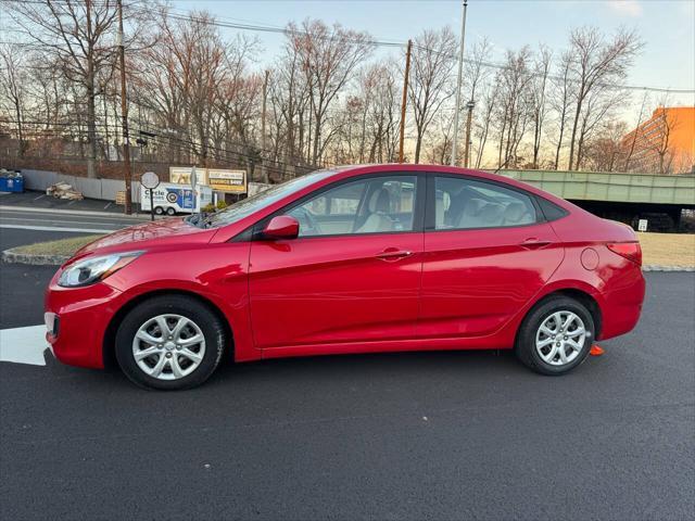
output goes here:
{"type": "Polygon", "coordinates": [[[521,327],[517,333],[515,351],[521,363],[535,372],[547,376],[566,374],[586,359],[594,341],[595,331],[594,319],[591,313],[589,313],[580,302],[563,295],[551,296],[536,304],[526,316],[523,322],[521,322],[521,327]],[[551,315],[557,312],[571,312],[576,314],[584,322],[584,329],[586,331],[584,344],[579,355],[573,360],[561,366],[546,363],[541,358],[535,348],[539,328],[551,315]]]}

